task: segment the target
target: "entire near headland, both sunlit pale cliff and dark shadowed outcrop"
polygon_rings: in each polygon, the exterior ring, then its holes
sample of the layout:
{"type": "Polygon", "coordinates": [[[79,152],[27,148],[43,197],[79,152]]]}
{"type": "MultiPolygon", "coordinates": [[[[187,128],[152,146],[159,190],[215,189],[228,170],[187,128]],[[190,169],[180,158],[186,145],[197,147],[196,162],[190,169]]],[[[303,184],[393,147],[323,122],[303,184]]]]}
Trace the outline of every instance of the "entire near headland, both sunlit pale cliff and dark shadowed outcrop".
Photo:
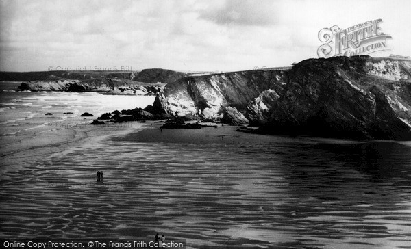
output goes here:
{"type": "Polygon", "coordinates": [[[170,83],[156,107],[179,116],[245,113],[264,133],[411,139],[411,63],[371,57],[305,60],[170,83]]]}

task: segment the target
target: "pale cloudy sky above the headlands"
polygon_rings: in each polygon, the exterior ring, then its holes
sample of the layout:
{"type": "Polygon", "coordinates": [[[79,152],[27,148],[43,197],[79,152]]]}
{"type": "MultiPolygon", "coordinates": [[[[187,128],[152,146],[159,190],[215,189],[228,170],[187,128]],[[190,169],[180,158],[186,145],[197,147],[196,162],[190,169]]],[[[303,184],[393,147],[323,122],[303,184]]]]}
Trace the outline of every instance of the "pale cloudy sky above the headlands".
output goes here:
{"type": "Polygon", "coordinates": [[[0,0],[0,71],[233,71],[318,57],[324,27],[382,19],[411,55],[409,0],[0,0]]]}

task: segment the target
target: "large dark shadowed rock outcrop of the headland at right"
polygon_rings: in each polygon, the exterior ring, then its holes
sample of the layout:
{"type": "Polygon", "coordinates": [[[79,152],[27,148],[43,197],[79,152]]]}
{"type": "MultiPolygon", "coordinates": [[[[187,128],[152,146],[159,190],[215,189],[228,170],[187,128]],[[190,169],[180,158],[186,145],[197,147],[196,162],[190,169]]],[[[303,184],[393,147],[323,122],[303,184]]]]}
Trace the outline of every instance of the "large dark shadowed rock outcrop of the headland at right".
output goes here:
{"type": "Polygon", "coordinates": [[[300,62],[284,91],[251,101],[247,118],[266,133],[411,139],[410,62],[335,57],[300,62]]]}

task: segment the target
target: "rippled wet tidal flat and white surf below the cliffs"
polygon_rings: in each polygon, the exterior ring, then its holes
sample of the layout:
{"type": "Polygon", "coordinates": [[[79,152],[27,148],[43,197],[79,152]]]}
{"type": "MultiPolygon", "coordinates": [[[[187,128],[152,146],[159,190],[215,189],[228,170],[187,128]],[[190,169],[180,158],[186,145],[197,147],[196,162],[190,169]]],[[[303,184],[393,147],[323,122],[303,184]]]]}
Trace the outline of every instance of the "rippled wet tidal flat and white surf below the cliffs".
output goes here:
{"type": "Polygon", "coordinates": [[[100,133],[86,124],[153,96],[16,92],[18,85],[0,83],[2,239],[160,233],[186,248],[411,248],[411,142],[221,125],[166,130],[158,122],[100,133]]]}

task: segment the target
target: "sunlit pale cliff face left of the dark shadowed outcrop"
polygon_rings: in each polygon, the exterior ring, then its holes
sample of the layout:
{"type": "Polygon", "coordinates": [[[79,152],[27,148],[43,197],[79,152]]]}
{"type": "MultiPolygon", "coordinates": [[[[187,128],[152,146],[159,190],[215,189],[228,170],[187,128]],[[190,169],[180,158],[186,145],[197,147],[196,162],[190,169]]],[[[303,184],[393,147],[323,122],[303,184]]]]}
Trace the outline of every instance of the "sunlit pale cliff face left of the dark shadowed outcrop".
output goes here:
{"type": "Polygon", "coordinates": [[[245,111],[262,91],[281,89],[284,71],[249,70],[217,75],[185,77],[169,83],[156,105],[169,114],[218,116],[222,107],[245,111]]]}

